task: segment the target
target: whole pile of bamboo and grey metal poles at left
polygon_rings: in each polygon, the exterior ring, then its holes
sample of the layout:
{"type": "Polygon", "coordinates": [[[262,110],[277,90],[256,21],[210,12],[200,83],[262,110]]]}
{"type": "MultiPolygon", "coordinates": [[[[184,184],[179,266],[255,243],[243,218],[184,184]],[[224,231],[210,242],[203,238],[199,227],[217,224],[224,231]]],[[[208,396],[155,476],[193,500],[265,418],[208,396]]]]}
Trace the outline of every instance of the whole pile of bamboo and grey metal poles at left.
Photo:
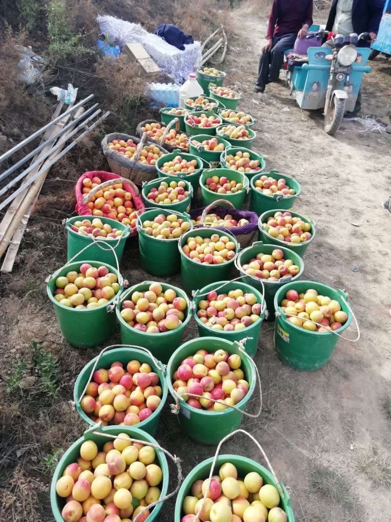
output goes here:
{"type": "Polygon", "coordinates": [[[26,230],[31,212],[52,165],[63,157],[68,150],[74,147],[85,135],[99,126],[109,115],[109,112],[106,112],[98,117],[92,125],[88,126],[87,124],[101,113],[100,109],[94,112],[94,109],[98,106],[97,103],[88,109],[84,108],[83,105],[92,98],[93,94],[75,105],[70,105],[62,115],[60,115],[60,113],[64,103],[60,102],[57,105],[51,122],[0,156],[0,163],[2,163],[15,152],[25,147],[30,141],[43,134],[38,147],[0,174],[0,181],[2,181],[11,173],[18,171],[23,163],[32,158],[28,168],[0,189],[0,196],[2,196],[8,193],[10,188],[18,183],[19,180],[23,180],[19,188],[0,203],[0,210],[9,205],[8,210],[0,222],[0,258],[2,258],[7,251],[1,267],[2,272],[10,272],[13,269],[23,233],[26,230]],[[88,116],[91,112],[92,114],[88,116]],[[84,132],[79,134],[79,136],[71,141],[64,149],[66,141],[80,131],[84,132]]]}

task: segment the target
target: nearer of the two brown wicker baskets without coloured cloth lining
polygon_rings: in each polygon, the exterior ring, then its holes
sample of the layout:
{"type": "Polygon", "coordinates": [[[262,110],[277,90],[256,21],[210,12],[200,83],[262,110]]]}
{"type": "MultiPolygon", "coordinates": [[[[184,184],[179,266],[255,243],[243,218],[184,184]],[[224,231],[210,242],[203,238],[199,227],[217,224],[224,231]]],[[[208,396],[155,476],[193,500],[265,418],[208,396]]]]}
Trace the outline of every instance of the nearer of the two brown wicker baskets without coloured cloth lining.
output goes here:
{"type": "Polygon", "coordinates": [[[121,177],[126,177],[128,180],[140,186],[144,181],[151,181],[157,177],[157,170],[154,165],[145,165],[138,161],[144,145],[156,145],[164,154],[167,154],[167,149],[161,147],[154,140],[149,141],[146,133],[141,136],[141,139],[127,134],[113,133],[107,134],[102,140],[103,153],[107,158],[111,171],[121,177]],[[137,150],[131,159],[121,156],[116,150],[109,148],[107,145],[110,141],[113,141],[113,139],[123,139],[126,141],[129,138],[133,140],[133,143],[137,144],[137,150]]]}

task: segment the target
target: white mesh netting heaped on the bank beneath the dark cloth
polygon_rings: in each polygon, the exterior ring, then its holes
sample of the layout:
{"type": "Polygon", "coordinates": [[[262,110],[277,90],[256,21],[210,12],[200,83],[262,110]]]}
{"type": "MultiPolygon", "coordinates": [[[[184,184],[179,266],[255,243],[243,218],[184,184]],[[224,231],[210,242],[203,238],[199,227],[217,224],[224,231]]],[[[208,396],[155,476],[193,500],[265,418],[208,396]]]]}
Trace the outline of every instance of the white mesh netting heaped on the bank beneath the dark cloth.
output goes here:
{"type": "Polygon", "coordinates": [[[105,37],[118,42],[121,48],[127,43],[141,43],[161,70],[173,76],[178,83],[186,80],[201,62],[200,42],[185,45],[185,51],[180,51],[156,34],[145,31],[138,23],[113,16],[98,16],[96,20],[105,37]]]}

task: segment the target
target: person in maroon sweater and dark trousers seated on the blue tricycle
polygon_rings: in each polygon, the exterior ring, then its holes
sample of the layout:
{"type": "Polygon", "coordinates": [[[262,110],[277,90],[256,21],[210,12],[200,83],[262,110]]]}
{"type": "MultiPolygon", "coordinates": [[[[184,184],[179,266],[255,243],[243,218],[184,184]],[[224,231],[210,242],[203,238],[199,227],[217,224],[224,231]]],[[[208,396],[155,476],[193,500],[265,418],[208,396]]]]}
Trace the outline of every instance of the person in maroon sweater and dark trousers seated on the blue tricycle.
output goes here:
{"type": "Polygon", "coordinates": [[[297,37],[305,38],[311,25],[312,0],[273,0],[255,92],[263,92],[266,84],[278,79],[284,52],[294,46],[297,37]]]}

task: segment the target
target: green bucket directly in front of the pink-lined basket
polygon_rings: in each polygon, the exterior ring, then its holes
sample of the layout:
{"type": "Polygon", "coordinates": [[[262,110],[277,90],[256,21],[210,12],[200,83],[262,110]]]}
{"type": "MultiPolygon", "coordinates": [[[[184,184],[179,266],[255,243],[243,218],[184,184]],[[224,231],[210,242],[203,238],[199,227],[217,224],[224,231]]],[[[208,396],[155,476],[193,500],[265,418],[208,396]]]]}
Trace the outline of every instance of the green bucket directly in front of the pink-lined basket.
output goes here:
{"type": "Polygon", "coordinates": [[[75,216],[68,218],[65,222],[65,227],[68,232],[68,261],[73,259],[75,262],[83,261],[85,258],[84,252],[80,255],[78,253],[89,244],[95,243],[88,249],[88,257],[99,263],[107,263],[108,265],[115,265],[116,259],[113,254],[112,248],[106,246],[107,243],[111,245],[118,258],[118,263],[121,262],[122,255],[124,253],[125,242],[130,234],[130,227],[122,224],[120,221],[115,219],[99,217],[103,224],[107,223],[112,228],[123,230],[123,234],[118,239],[113,240],[96,240],[90,238],[88,235],[82,235],[75,230],[70,228],[71,224],[75,221],[82,221],[83,219],[93,219],[96,216],[75,216]],[[99,243],[99,244],[97,244],[99,243]]]}

